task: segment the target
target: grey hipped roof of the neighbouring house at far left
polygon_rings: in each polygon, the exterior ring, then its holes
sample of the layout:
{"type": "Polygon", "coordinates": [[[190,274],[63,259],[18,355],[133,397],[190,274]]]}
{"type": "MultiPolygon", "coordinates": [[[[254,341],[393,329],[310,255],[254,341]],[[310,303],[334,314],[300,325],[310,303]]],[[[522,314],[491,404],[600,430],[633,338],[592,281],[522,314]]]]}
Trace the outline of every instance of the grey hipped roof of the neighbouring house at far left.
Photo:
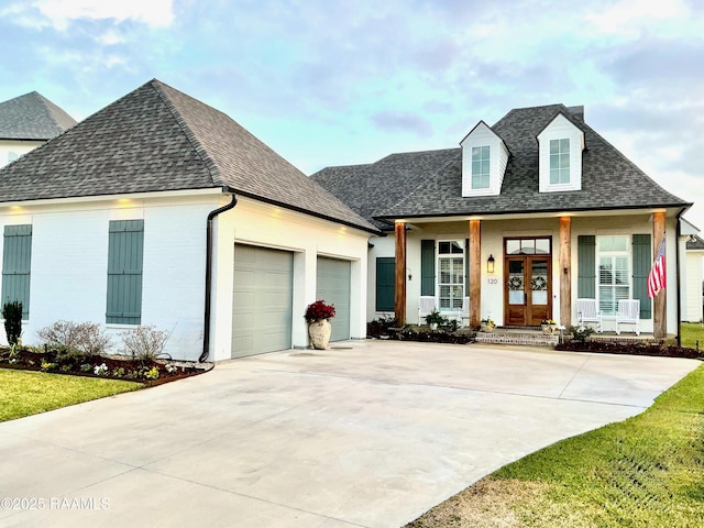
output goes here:
{"type": "Polygon", "coordinates": [[[76,120],[36,91],[0,102],[0,140],[51,140],[76,120]]]}

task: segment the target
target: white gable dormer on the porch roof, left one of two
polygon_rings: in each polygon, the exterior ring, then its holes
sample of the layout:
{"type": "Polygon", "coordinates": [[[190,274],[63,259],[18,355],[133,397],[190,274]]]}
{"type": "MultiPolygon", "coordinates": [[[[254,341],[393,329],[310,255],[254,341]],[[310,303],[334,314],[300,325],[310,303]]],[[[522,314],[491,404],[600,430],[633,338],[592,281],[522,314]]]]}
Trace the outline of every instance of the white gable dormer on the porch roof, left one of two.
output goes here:
{"type": "Polygon", "coordinates": [[[497,196],[502,191],[508,148],[504,140],[480,121],[460,142],[462,196],[497,196]]]}

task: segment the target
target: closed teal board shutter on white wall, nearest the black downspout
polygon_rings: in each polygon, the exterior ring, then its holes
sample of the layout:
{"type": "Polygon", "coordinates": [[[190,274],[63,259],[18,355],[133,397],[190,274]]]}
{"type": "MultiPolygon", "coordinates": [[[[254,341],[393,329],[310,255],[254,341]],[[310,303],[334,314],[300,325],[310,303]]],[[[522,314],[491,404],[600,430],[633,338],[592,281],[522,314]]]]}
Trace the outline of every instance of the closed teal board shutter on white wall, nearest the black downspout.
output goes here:
{"type": "Polygon", "coordinates": [[[113,220],[108,240],[106,322],[142,322],[144,220],[113,220]]]}

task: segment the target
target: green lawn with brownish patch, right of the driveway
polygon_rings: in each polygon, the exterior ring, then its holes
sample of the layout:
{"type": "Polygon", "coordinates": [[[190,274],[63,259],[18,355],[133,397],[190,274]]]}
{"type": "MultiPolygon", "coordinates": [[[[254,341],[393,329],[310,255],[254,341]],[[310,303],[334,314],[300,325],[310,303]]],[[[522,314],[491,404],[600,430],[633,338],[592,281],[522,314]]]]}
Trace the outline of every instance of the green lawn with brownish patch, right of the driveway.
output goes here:
{"type": "Polygon", "coordinates": [[[648,410],[506,465],[408,527],[704,526],[704,365],[648,410]]]}

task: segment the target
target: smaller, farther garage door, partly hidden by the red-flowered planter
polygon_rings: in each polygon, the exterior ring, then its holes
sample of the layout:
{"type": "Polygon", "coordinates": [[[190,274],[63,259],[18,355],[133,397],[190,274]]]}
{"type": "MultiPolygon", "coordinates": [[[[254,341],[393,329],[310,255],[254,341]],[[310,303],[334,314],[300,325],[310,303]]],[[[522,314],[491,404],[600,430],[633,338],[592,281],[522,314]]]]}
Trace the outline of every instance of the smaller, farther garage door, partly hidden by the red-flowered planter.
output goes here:
{"type": "Polygon", "coordinates": [[[330,341],[350,339],[350,262],[318,257],[316,299],[334,305],[330,341]]]}

